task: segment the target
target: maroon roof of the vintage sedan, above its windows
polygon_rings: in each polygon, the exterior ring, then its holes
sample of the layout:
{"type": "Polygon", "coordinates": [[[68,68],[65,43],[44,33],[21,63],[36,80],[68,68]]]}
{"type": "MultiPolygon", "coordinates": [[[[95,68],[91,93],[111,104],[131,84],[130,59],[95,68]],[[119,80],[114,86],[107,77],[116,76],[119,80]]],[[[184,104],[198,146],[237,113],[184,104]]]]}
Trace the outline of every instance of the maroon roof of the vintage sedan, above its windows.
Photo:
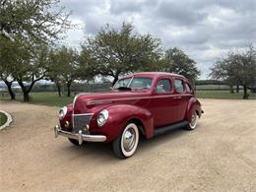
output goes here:
{"type": "MultiPolygon", "coordinates": [[[[171,77],[179,77],[184,78],[184,76],[174,74],[174,73],[167,73],[167,72],[139,72],[139,73],[133,73],[126,76],[123,76],[122,78],[129,78],[129,77],[149,77],[149,78],[158,78],[158,77],[165,77],[165,76],[171,76],[171,77]]],[[[121,78],[121,79],[122,79],[121,78]]]]}

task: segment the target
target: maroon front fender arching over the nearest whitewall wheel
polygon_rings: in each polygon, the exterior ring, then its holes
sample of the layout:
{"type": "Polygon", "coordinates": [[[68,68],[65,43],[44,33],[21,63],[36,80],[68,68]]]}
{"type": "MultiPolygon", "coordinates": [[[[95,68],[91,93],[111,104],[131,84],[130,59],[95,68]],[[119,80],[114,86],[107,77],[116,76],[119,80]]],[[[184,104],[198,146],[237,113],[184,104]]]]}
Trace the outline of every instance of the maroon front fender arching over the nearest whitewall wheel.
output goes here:
{"type": "MultiPolygon", "coordinates": [[[[124,126],[131,119],[138,119],[142,122],[147,138],[154,136],[153,115],[142,107],[130,104],[116,104],[106,107],[108,110],[107,122],[102,127],[94,129],[94,133],[106,136],[106,142],[111,142],[121,134],[124,126]]],[[[92,119],[96,123],[96,119],[92,119]]]]}

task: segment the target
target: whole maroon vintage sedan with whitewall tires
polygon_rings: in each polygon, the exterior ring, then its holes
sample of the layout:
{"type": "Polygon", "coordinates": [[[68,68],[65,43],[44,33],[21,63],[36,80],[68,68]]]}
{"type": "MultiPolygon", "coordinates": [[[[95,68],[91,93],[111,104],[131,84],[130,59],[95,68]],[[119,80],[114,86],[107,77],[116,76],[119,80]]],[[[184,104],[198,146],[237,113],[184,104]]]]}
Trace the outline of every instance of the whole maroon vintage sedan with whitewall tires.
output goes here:
{"type": "Polygon", "coordinates": [[[112,142],[116,157],[131,157],[140,135],[193,130],[203,110],[186,78],[170,73],[136,73],[116,82],[110,93],[79,94],[59,112],[55,136],[75,145],[112,142]]]}

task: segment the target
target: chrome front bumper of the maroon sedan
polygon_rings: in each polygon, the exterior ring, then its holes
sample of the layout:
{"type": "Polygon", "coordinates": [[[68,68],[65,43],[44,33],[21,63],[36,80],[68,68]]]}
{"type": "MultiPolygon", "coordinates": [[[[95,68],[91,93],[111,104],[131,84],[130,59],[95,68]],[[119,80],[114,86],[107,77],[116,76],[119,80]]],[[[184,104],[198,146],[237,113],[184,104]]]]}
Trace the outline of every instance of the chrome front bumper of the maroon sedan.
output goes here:
{"type": "Polygon", "coordinates": [[[106,137],[104,135],[86,135],[82,134],[82,131],[80,130],[78,133],[71,133],[68,131],[61,130],[61,127],[59,125],[56,125],[54,127],[54,133],[55,138],[57,138],[59,135],[71,139],[76,139],[79,142],[79,145],[82,145],[83,141],[87,142],[104,142],[106,140],[106,137]]]}

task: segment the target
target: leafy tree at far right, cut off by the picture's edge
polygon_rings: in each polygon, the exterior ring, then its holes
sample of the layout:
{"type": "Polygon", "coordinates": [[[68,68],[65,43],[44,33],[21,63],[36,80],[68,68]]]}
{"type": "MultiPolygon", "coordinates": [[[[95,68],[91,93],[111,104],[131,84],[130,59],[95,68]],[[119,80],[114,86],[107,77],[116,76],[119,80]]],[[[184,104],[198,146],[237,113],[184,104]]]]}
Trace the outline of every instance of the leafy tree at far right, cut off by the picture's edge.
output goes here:
{"type": "Polygon", "coordinates": [[[241,85],[243,98],[248,98],[247,90],[256,86],[256,51],[252,45],[245,51],[229,51],[211,70],[213,78],[223,79],[229,85],[241,85]]]}

